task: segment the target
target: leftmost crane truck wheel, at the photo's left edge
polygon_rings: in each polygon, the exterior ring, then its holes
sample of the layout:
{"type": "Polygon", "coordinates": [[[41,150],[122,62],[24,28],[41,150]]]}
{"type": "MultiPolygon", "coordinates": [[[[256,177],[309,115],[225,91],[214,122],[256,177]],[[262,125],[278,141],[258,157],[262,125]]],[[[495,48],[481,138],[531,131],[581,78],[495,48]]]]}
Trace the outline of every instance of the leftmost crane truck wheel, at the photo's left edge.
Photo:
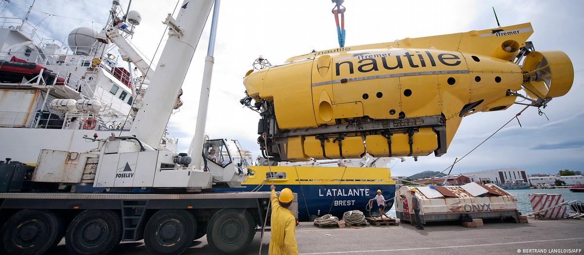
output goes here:
{"type": "Polygon", "coordinates": [[[51,211],[22,210],[2,226],[2,246],[8,254],[43,254],[61,241],[60,229],[51,211]]]}

